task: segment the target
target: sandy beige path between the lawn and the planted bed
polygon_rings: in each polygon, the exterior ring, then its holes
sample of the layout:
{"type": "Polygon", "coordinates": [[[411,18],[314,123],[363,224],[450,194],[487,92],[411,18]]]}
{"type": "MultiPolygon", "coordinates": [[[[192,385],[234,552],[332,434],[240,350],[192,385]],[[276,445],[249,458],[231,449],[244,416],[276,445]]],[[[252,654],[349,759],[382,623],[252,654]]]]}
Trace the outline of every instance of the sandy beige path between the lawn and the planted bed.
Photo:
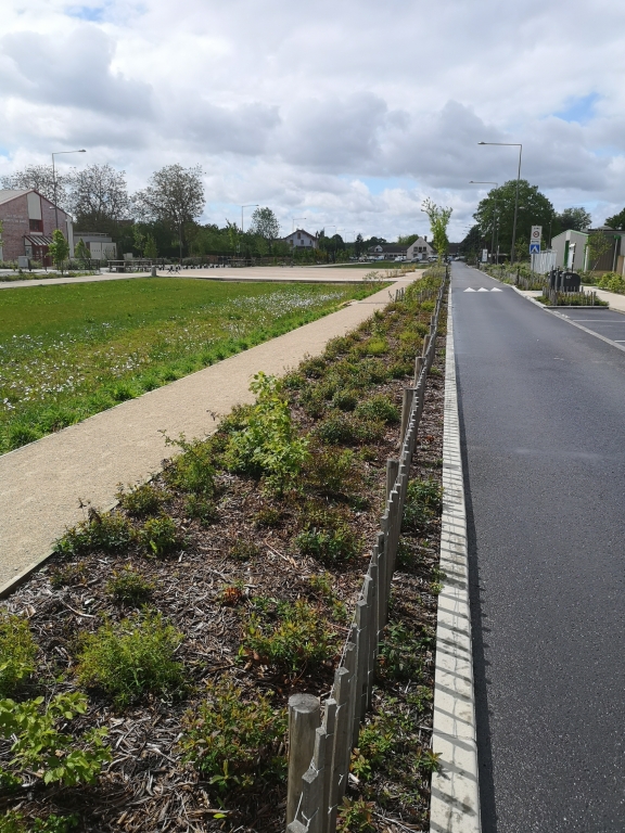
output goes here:
{"type": "MultiPolygon", "coordinates": [[[[397,281],[392,290],[413,278],[397,281]]],[[[0,457],[0,592],[43,559],[66,526],[82,518],[79,499],[110,507],[119,483],[144,480],[176,452],[165,446],[161,430],[170,437],[211,434],[217,425],[211,414],[222,416],[234,405],[253,400],[248,385],[254,373],[280,375],[306,354],[320,354],[330,338],[384,307],[388,296],[390,290],[382,290],[0,457]]]]}

